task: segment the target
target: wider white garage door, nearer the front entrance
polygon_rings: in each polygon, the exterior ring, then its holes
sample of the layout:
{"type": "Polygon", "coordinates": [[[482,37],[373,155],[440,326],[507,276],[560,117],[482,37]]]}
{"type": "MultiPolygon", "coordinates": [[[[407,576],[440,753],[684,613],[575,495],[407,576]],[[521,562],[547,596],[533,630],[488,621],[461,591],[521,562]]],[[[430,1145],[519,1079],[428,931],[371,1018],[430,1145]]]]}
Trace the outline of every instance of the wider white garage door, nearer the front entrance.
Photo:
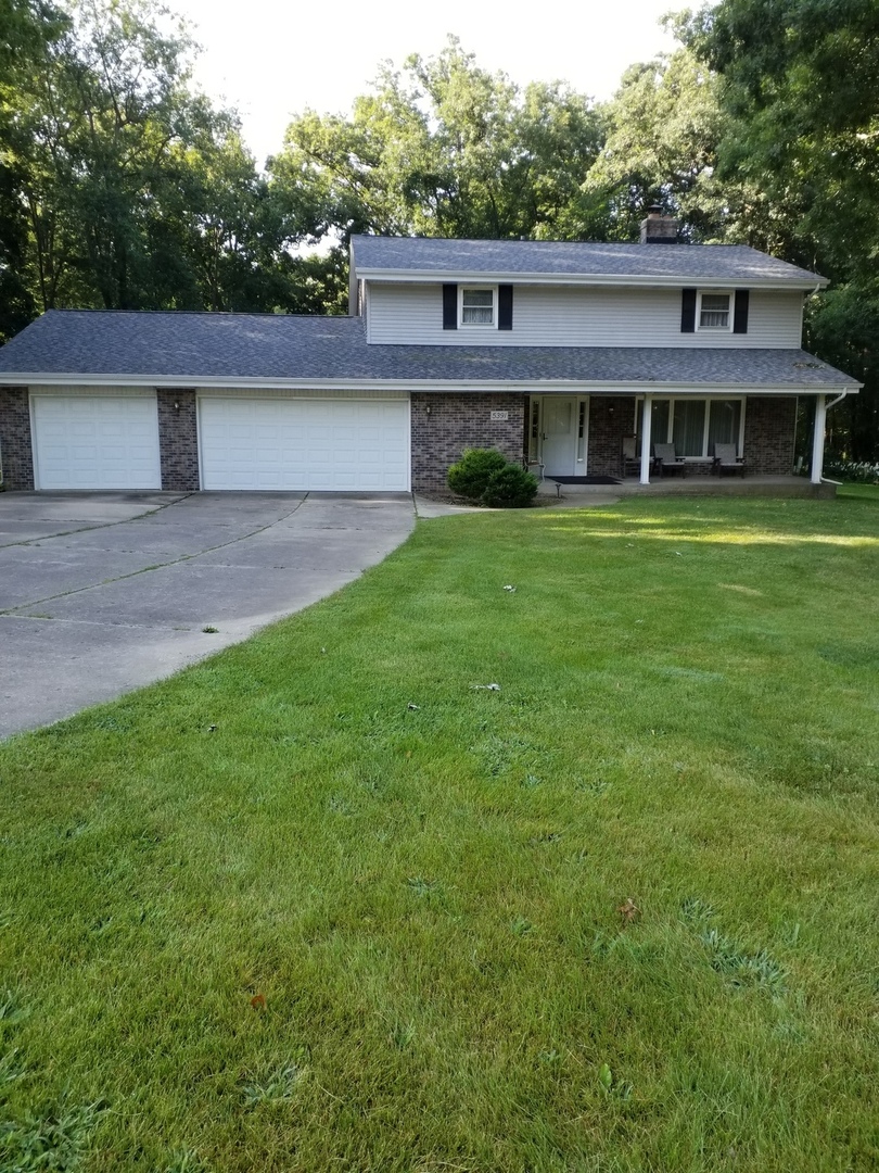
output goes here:
{"type": "Polygon", "coordinates": [[[199,399],[204,489],[409,488],[409,400],[199,399]]]}

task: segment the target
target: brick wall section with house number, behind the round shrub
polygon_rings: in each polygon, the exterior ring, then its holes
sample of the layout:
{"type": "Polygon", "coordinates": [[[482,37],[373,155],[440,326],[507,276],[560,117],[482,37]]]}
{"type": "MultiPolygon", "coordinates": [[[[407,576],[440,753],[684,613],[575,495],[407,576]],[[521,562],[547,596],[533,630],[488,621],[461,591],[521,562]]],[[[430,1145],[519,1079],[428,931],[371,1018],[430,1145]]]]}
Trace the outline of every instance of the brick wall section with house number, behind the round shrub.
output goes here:
{"type": "Polygon", "coordinates": [[[498,448],[510,460],[522,460],[525,395],[413,392],[411,425],[413,488],[444,489],[449,466],[464,448],[498,448]],[[509,418],[492,420],[491,412],[509,418]]]}

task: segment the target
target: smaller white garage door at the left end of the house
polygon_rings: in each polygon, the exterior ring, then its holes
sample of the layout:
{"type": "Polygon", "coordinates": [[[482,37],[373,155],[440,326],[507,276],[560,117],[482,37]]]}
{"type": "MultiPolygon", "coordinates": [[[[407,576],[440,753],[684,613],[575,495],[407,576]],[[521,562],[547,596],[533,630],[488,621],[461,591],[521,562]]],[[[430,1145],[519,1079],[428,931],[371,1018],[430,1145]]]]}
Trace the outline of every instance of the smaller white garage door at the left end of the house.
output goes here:
{"type": "Polygon", "coordinates": [[[156,395],[45,395],[33,404],[39,489],[161,489],[156,395]]]}

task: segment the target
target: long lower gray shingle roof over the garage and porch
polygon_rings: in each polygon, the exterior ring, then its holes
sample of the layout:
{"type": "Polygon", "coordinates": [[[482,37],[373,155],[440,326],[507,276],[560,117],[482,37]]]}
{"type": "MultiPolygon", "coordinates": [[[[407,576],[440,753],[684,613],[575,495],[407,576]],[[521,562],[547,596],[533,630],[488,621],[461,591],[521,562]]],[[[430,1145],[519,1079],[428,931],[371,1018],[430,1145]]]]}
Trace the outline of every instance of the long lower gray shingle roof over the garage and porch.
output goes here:
{"type": "Polygon", "coordinates": [[[52,310],[0,350],[0,384],[39,375],[144,384],[238,379],[822,388],[859,386],[800,350],[368,345],[360,318],[52,310]],[[4,375],[6,374],[6,380],[4,375]],[[12,377],[12,378],[11,378],[12,377]]]}

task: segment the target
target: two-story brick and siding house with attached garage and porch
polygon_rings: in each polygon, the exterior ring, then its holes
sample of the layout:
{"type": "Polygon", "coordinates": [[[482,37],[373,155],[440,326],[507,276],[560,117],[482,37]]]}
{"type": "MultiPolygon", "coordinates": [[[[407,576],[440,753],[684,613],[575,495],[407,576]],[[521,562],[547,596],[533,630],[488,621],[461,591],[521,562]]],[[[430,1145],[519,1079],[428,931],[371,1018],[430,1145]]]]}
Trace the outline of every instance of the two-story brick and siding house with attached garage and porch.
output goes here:
{"type": "Polygon", "coordinates": [[[8,488],[430,490],[465,447],[647,482],[657,443],[792,470],[797,400],[859,384],[800,350],[826,282],[754,249],[355,237],[348,318],[50,311],[0,351],[8,488]]]}

